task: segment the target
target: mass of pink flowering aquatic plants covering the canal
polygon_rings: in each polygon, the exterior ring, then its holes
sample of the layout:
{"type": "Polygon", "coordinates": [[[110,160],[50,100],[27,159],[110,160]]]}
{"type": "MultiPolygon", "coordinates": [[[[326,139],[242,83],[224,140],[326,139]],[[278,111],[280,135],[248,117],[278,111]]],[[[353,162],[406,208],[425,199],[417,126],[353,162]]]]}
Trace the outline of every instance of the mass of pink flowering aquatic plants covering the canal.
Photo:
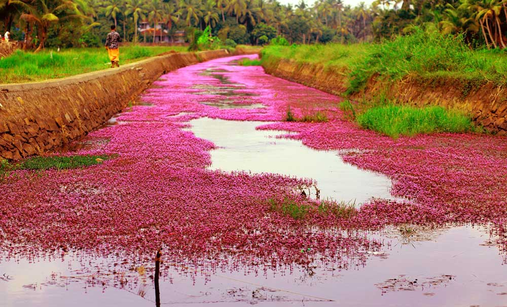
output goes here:
{"type": "Polygon", "coordinates": [[[507,139],[436,134],[392,140],[344,120],[337,97],[266,75],[259,66],[229,64],[239,58],[162,76],[141,97],[151,105],[122,113],[121,125],[86,137],[97,146],[78,151],[116,158],[42,176],[16,171],[0,185],[3,256],[68,249],[146,256],[162,247],[166,258],[194,262],[233,257],[249,266],[276,266],[318,257],[346,267],[354,251],[380,247],[362,231],[385,225],[494,223],[497,234],[504,233],[507,139]],[[256,95],[224,96],[224,90],[256,95]],[[210,101],[264,108],[204,104],[210,101]],[[328,121],[283,122],[288,107],[296,117],[318,111],[328,121]],[[214,144],[184,129],[203,116],[266,121],[258,129],[295,132],[285,137],[318,150],[344,150],[346,162],[389,176],[392,194],[407,201],[377,199],[354,214],[326,214],[319,202],[293,192],[311,180],[208,170],[214,144]],[[304,218],[270,206],[287,197],[304,206],[304,218]]]}

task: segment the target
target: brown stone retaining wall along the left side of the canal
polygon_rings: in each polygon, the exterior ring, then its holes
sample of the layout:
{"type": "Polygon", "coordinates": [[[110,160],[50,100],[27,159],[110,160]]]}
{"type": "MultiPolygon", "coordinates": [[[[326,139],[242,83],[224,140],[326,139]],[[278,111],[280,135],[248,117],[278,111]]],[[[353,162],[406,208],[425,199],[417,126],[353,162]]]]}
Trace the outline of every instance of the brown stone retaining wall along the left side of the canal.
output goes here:
{"type": "Polygon", "coordinates": [[[124,109],[160,75],[226,56],[231,56],[226,50],[169,53],[119,69],[0,85],[0,157],[17,160],[79,139],[124,109]]]}

